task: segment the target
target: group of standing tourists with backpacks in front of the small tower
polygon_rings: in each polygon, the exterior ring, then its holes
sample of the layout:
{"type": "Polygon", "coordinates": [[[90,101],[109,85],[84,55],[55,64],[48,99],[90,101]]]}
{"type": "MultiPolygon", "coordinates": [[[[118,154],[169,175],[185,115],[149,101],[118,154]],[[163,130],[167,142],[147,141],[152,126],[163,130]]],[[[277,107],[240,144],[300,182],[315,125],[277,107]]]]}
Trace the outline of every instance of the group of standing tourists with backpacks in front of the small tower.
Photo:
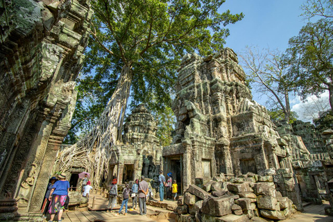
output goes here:
{"type": "MultiPolygon", "coordinates": [[[[140,214],[144,215],[147,212],[146,209],[146,196],[148,195],[149,189],[148,189],[148,182],[144,180],[144,176],[141,176],[141,181],[135,180],[135,183],[133,184],[132,188],[130,188],[130,185],[127,183],[125,189],[123,189],[123,201],[121,203],[121,207],[119,211],[114,214],[114,216],[119,216],[121,213],[121,210],[123,210],[123,207],[125,206],[125,213],[127,214],[128,210],[128,199],[131,197],[133,198],[133,206],[132,209],[136,209],[137,207],[137,199],[139,198],[139,210],[140,214]]],[[[109,204],[108,204],[108,211],[112,212],[113,208],[115,207],[117,203],[117,196],[118,196],[118,187],[117,187],[117,178],[113,178],[111,185],[110,185],[110,193],[109,193],[109,204]]]]}

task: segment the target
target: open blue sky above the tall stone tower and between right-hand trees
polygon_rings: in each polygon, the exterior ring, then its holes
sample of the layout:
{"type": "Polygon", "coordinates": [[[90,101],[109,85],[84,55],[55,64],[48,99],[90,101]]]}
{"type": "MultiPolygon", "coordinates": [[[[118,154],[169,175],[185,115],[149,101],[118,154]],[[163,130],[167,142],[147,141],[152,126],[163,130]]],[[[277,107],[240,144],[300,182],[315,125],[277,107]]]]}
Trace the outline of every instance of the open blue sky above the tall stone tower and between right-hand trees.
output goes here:
{"type": "MultiPolygon", "coordinates": [[[[298,35],[300,28],[308,20],[300,16],[300,6],[305,0],[226,0],[220,12],[230,10],[233,14],[243,12],[245,17],[236,24],[227,26],[230,36],[225,47],[240,54],[246,46],[258,46],[259,49],[279,49],[285,51],[288,40],[298,35]]],[[[311,19],[311,22],[316,19],[311,19]]],[[[324,95],[328,101],[328,94],[324,95]]],[[[266,96],[260,96],[253,90],[253,99],[264,105],[266,96]]],[[[316,100],[316,99],[314,99],[316,100]]],[[[292,110],[298,112],[303,121],[310,121],[302,114],[302,104],[298,97],[291,99],[292,110]]]]}

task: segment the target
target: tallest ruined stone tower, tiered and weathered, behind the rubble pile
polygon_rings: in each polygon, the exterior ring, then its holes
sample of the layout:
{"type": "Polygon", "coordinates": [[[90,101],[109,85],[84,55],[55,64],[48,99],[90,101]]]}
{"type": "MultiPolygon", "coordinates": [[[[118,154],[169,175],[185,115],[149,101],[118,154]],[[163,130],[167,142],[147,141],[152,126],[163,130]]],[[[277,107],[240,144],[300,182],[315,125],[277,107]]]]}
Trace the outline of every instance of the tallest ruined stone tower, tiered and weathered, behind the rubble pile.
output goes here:
{"type": "Polygon", "coordinates": [[[173,111],[176,136],[173,145],[164,147],[164,169],[175,172],[177,161],[178,168],[187,169],[180,184],[185,189],[195,178],[220,173],[231,177],[291,169],[288,144],[278,135],[266,108],[252,100],[232,49],[207,58],[183,58],[173,111]]]}

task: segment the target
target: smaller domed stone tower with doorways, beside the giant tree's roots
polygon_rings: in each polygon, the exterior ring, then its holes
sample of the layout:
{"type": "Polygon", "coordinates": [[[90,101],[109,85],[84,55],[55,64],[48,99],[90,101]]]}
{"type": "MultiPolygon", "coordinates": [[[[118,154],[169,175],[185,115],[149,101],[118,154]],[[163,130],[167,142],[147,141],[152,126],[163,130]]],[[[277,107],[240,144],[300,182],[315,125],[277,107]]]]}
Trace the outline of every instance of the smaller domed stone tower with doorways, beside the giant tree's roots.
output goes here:
{"type": "Polygon", "coordinates": [[[138,105],[123,126],[123,145],[112,151],[109,180],[117,175],[118,182],[153,178],[162,165],[162,146],[156,137],[157,122],[144,105],[138,105]]]}

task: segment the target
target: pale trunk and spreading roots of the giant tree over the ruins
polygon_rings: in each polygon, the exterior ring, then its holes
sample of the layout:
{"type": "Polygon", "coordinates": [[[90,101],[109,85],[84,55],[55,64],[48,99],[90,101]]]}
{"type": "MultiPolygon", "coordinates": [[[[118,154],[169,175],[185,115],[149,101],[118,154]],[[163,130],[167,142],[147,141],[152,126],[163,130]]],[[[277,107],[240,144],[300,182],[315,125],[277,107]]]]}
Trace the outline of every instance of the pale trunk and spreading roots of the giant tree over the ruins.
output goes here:
{"type": "Polygon", "coordinates": [[[73,162],[94,172],[92,184],[99,186],[103,172],[108,171],[114,145],[121,142],[123,118],[126,112],[130,85],[133,80],[132,67],[124,65],[117,87],[96,126],[76,144],[68,146],[60,154],[60,171],[67,171],[73,162]]]}

